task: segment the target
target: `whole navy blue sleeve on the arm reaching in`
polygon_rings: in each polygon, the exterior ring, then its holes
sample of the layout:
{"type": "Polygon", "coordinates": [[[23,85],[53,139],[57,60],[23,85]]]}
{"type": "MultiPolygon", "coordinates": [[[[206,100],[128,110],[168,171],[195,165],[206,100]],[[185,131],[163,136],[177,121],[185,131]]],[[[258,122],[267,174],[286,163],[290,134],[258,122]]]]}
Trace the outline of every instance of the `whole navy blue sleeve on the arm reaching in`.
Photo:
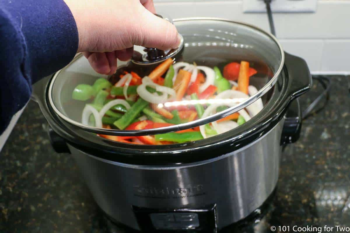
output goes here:
{"type": "Polygon", "coordinates": [[[31,85],[68,64],[78,30],[63,0],[0,0],[0,134],[31,85]]]}

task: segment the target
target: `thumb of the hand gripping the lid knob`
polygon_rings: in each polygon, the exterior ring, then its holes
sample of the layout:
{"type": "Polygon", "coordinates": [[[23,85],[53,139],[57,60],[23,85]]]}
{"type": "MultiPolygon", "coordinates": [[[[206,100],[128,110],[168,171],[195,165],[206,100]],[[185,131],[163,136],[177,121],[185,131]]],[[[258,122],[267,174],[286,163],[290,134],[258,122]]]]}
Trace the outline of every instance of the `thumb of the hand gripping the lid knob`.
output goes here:
{"type": "Polygon", "coordinates": [[[136,31],[134,44],[161,50],[175,49],[180,45],[181,37],[176,27],[148,10],[142,14],[141,26],[136,31]]]}

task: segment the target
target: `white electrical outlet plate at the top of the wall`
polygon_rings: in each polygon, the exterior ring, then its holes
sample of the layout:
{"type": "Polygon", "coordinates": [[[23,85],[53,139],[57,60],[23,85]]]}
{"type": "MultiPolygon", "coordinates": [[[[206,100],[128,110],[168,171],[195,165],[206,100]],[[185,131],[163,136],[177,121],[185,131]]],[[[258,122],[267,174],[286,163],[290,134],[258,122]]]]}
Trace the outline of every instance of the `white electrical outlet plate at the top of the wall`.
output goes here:
{"type": "MultiPolygon", "coordinates": [[[[275,13],[316,12],[317,0],[272,0],[271,10],[275,13]]],[[[264,13],[263,0],[243,0],[244,13],[264,13]]]]}

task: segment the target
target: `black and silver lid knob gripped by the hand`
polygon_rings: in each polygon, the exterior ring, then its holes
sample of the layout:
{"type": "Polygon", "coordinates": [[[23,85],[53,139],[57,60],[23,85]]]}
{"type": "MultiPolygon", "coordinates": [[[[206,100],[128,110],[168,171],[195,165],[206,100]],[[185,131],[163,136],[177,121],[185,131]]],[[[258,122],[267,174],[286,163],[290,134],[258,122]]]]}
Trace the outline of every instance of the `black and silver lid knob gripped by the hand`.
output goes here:
{"type": "MultiPolygon", "coordinates": [[[[162,19],[165,19],[173,24],[173,20],[165,15],[155,14],[162,19]]],[[[181,35],[180,35],[181,36],[181,35]]],[[[183,48],[183,38],[181,36],[181,43],[179,48],[170,49],[170,50],[160,50],[156,48],[146,48],[142,46],[135,45],[134,52],[131,58],[131,61],[138,65],[152,65],[160,63],[168,58],[174,57],[177,53],[183,48]]]]}

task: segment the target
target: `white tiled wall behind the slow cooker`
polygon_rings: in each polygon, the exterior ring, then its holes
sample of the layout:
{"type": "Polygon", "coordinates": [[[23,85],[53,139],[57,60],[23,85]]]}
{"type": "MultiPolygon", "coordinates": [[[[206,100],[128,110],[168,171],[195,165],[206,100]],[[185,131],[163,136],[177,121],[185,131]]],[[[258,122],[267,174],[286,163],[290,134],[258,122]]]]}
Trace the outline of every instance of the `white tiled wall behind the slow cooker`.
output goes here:
{"type": "MultiPolygon", "coordinates": [[[[276,0],[277,1],[277,0],[276,0]]],[[[241,0],[154,0],[156,10],[176,18],[220,17],[269,31],[267,15],[243,13],[241,0]]],[[[312,73],[350,73],[350,0],[320,0],[316,13],[275,13],[285,51],[306,59],[312,73]]]]}

